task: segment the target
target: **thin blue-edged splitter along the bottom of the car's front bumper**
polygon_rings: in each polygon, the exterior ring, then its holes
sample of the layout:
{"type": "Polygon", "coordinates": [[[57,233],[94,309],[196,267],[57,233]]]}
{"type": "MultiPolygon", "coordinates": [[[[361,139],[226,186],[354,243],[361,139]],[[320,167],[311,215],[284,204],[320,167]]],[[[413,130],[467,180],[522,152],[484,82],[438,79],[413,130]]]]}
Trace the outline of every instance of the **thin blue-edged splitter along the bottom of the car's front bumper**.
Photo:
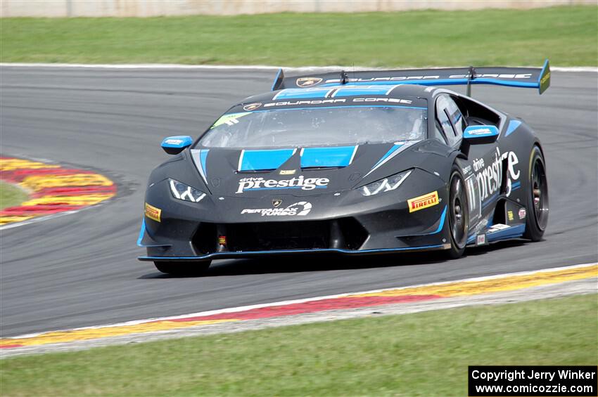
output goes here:
{"type": "Polygon", "coordinates": [[[201,259],[212,259],[218,257],[247,257],[247,256],[258,256],[268,254],[307,254],[307,253],[319,253],[319,252],[338,252],[340,254],[374,254],[377,252],[402,252],[402,251],[415,251],[418,249],[442,249],[443,245],[424,245],[421,247],[405,247],[405,248],[379,248],[379,249],[338,249],[338,248],[322,248],[322,249],[274,249],[272,251],[248,251],[248,252],[214,252],[213,254],[203,256],[138,256],[137,259],[141,261],[153,261],[163,259],[165,261],[170,259],[180,260],[201,260],[201,259]]]}

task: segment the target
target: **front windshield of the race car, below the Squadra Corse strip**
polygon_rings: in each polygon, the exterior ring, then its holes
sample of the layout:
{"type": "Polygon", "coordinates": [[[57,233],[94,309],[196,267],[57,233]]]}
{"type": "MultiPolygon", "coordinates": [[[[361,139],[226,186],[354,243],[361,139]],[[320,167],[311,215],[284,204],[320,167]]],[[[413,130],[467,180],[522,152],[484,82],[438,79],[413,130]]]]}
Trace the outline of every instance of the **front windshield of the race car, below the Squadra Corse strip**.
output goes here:
{"type": "Polygon", "coordinates": [[[204,148],[298,148],[421,141],[425,136],[424,108],[291,108],[225,114],[198,145],[204,148]]]}

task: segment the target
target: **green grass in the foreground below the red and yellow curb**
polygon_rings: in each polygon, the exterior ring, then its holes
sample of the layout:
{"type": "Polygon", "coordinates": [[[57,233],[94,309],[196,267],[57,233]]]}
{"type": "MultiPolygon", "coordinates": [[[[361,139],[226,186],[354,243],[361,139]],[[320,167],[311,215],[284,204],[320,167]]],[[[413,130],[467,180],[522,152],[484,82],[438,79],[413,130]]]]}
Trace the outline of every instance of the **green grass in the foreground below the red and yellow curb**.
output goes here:
{"type": "Polygon", "coordinates": [[[468,365],[596,365],[598,295],[0,361],[2,396],[466,396],[468,365]]]}

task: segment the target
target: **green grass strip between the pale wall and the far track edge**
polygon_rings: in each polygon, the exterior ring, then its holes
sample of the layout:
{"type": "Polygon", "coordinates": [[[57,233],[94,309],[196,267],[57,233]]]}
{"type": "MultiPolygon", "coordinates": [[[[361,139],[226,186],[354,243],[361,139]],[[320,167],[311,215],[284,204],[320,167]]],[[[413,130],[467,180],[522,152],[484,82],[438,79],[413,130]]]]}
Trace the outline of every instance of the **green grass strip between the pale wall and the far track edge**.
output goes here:
{"type": "Polygon", "coordinates": [[[2,18],[1,62],[598,65],[598,7],[2,18]]]}

